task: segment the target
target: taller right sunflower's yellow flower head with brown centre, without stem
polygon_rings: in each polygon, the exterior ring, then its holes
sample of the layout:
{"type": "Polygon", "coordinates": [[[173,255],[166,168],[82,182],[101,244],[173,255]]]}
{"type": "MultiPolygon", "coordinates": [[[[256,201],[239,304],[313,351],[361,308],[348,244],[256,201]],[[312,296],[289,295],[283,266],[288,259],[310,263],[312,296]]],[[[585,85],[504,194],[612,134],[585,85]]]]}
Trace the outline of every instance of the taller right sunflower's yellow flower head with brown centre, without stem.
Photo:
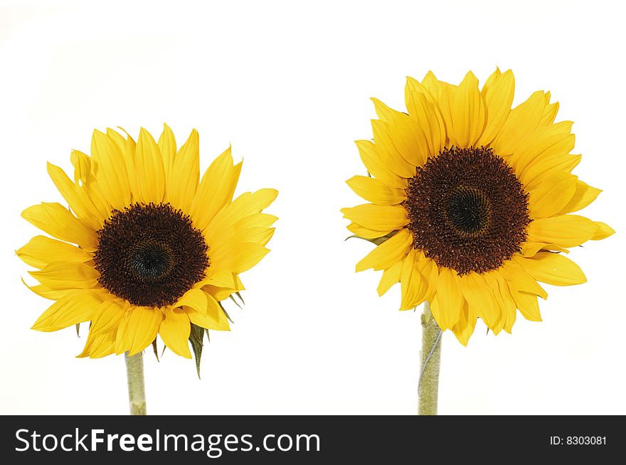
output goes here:
{"type": "Polygon", "coordinates": [[[479,90],[408,77],[407,112],[372,99],[373,141],[356,141],[368,174],[347,181],[369,203],[341,210],[357,237],[376,243],[356,271],[383,270],[378,294],[400,282],[400,310],[424,301],[442,330],[467,344],[480,318],[511,332],[516,310],[541,321],[538,282],[585,282],[565,255],[604,239],[605,223],[571,215],[600,190],[571,173],[580,161],[572,122],[534,92],[511,109],[514,76],[496,70],[479,90]]]}

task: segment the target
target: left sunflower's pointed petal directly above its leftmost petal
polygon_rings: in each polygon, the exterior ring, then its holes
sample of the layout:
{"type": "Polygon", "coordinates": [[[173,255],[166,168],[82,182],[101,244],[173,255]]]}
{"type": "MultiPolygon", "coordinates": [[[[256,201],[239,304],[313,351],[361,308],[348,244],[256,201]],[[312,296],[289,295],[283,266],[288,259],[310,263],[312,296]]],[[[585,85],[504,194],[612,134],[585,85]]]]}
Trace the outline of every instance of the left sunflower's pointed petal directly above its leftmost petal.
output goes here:
{"type": "Polygon", "coordinates": [[[22,218],[49,235],[78,244],[90,252],[97,248],[95,232],[85,227],[70,210],[59,203],[41,203],[26,208],[22,218]]]}

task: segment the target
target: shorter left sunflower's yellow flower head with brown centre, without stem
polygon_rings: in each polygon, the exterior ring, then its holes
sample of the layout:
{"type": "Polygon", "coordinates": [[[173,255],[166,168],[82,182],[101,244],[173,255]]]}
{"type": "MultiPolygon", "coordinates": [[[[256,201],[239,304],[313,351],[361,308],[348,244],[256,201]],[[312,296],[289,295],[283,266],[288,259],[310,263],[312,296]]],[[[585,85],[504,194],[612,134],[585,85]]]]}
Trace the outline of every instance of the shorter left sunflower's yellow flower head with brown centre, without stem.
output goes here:
{"type": "MultiPolygon", "coordinates": [[[[55,302],[33,325],[38,331],[90,321],[79,357],[132,356],[157,335],[191,358],[191,329],[228,331],[220,301],[244,289],[239,274],[269,250],[275,216],[261,213],[274,189],[233,201],[241,163],[230,147],[199,179],[198,132],[180,149],[164,126],[159,141],[145,129],[135,142],[112,129],[95,131],[91,156],[73,151],[73,180],[58,166],[48,173],[60,203],[26,208],[38,235],[17,251],[38,270],[30,289],[55,302]]],[[[197,354],[196,354],[197,356],[197,354]]]]}

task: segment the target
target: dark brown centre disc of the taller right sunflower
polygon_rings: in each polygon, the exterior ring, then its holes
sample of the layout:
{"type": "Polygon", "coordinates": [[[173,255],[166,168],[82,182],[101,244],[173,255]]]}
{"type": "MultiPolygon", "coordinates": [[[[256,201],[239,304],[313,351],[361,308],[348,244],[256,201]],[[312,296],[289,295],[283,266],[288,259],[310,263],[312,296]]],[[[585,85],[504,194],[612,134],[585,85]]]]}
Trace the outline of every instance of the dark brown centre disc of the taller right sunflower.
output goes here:
{"type": "Polygon", "coordinates": [[[406,194],[413,246],[460,274],[499,268],[526,240],[528,194],[492,149],[444,149],[406,194]]]}

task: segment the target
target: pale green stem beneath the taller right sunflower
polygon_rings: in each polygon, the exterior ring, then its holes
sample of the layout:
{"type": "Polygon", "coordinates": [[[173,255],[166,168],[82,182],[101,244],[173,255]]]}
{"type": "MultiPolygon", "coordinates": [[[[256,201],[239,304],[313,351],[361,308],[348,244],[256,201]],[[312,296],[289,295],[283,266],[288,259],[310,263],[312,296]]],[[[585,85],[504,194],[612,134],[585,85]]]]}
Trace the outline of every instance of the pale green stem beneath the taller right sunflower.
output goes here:
{"type": "Polygon", "coordinates": [[[420,380],[418,382],[418,415],[437,415],[439,368],[441,363],[441,329],[430,313],[430,304],[424,302],[422,314],[422,351],[420,352],[420,380]]]}

